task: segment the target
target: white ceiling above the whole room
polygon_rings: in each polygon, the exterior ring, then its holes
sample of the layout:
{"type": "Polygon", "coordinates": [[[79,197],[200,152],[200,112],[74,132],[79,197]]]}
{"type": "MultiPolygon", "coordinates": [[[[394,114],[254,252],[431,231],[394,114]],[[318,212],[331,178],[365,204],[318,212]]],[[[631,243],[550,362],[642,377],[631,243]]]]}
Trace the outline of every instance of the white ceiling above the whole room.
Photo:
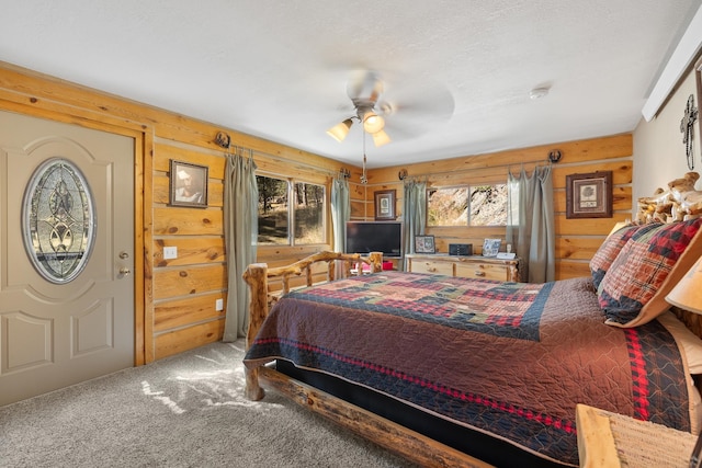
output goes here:
{"type": "Polygon", "coordinates": [[[326,130],[371,70],[374,168],[633,130],[700,3],[0,0],[0,60],[354,165],[360,126],[326,130]]]}

